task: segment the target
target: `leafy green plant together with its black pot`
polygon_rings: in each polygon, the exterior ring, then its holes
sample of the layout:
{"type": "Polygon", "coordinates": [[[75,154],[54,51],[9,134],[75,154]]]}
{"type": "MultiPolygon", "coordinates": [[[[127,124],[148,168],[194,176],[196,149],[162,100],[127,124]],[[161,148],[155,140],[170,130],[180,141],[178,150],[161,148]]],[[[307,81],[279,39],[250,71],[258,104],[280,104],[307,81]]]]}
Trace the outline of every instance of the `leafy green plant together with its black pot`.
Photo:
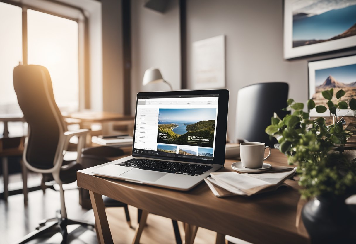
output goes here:
{"type": "Polygon", "coordinates": [[[302,219],[312,243],[343,243],[348,241],[352,227],[352,214],[345,198],[355,192],[356,163],[351,164],[343,153],[351,133],[343,127],[343,116],[338,113],[347,108],[356,111],[356,99],[341,101],[345,91],[339,90],[334,104],[333,88],[322,95],[333,124],[326,126],[323,117],[309,117],[310,110],[324,113],[325,106],[315,106],[313,100],[308,100],[305,112],[303,103],[288,99],[285,110],[291,113],[283,119],[274,113],[266,133],[277,138],[288,163],[298,167],[299,185],[304,187],[302,197],[310,199],[303,208],[302,219]]]}

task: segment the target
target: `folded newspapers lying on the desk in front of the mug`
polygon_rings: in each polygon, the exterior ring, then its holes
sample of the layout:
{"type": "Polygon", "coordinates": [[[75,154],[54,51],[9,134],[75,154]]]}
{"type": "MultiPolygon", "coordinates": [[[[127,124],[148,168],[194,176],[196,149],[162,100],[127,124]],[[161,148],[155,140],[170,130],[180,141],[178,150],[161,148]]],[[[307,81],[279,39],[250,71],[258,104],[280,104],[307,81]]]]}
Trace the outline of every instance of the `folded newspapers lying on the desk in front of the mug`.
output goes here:
{"type": "Polygon", "coordinates": [[[297,168],[287,172],[239,174],[237,172],[211,173],[211,177],[205,178],[211,191],[217,197],[231,195],[250,196],[269,190],[275,190],[282,183],[294,176],[297,168]]]}

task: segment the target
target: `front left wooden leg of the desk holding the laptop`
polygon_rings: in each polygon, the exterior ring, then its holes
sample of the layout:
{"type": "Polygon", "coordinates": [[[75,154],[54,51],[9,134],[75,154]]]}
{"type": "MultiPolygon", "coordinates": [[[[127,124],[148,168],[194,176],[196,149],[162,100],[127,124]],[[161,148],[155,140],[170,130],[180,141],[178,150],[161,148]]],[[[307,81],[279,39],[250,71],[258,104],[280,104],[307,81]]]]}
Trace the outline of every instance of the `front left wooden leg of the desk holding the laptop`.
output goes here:
{"type": "Polygon", "coordinates": [[[93,207],[95,217],[96,235],[98,235],[99,244],[113,244],[108,218],[106,217],[103,197],[100,194],[89,190],[91,206],[93,207]]]}

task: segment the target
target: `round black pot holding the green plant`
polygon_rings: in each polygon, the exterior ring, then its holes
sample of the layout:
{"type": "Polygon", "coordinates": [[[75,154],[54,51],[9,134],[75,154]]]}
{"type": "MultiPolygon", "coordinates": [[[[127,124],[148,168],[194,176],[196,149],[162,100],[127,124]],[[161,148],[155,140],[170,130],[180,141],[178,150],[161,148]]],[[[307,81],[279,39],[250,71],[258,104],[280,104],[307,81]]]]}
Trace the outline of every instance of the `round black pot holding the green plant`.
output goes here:
{"type": "Polygon", "coordinates": [[[307,202],[302,210],[303,223],[312,244],[353,243],[352,218],[345,198],[317,197],[307,202]]]}

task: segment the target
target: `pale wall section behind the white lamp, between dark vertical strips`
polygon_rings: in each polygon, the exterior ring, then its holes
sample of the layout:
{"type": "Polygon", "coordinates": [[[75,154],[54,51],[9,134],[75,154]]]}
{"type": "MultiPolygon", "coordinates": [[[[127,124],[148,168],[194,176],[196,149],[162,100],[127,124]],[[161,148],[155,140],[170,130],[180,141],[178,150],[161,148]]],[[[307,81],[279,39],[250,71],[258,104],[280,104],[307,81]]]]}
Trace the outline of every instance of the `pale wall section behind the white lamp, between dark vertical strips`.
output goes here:
{"type": "Polygon", "coordinates": [[[171,0],[163,14],[131,1],[131,111],[135,115],[136,94],[140,91],[165,91],[164,83],[142,86],[145,70],[157,67],[164,80],[180,89],[180,30],[178,0],[171,0]]]}

